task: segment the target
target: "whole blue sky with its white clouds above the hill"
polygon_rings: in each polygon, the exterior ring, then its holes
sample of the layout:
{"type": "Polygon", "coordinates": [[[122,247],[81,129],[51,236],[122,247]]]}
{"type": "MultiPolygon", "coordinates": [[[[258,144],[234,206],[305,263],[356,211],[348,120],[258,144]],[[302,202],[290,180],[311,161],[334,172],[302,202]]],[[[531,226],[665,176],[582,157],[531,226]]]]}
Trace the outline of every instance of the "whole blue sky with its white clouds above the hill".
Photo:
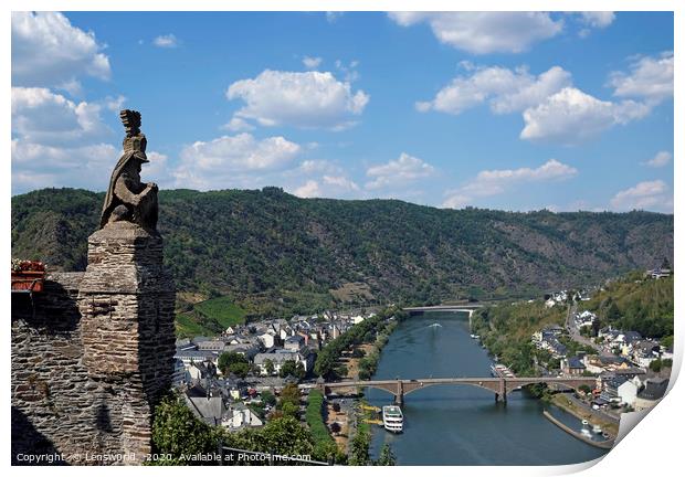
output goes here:
{"type": "Polygon", "coordinates": [[[162,188],[673,211],[673,15],[12,14],[12,193],[162,188]]]}

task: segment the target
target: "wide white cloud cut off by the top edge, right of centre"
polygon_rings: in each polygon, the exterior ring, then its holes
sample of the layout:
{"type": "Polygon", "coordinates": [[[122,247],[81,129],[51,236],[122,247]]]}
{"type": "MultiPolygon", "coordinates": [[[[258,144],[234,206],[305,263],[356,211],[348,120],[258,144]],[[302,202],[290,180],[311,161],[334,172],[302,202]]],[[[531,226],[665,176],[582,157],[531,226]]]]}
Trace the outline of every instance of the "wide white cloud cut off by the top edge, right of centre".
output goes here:
{"type": "Polygon", "coordinates": [[[475,54],[520,53],[561,32],[544,12],[391,12],[402,26],[428,23],[442,43],[475,54]]]}

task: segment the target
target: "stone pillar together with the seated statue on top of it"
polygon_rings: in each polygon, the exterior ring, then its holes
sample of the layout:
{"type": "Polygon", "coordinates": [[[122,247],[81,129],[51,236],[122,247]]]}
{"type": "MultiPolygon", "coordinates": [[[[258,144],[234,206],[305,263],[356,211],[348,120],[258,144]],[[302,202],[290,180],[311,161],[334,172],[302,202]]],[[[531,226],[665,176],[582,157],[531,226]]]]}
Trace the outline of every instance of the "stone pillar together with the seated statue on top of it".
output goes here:
{"type": "Polygon", "coordinates": [[[117,422],[120,452],[144,455],[154,407],[171,386],[175,292],[157,232],[157,184],[140,182],[148,162],[140,113],[125,109],[120,117],[124,155],[112,172],[101,230],[88,237],[78,307],[83,363],[103,394],[98,420],[117,422]]]}

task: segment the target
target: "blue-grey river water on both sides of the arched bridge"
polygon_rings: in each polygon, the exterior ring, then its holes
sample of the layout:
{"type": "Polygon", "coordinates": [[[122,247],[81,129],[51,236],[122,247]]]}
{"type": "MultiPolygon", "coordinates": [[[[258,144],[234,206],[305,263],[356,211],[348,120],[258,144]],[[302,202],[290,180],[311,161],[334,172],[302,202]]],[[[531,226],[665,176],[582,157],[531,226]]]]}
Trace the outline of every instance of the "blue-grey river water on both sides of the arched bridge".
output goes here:
{"type": "MultiPolygon", "coordinates": [[[[471,339],[465,314],[430,312],[401,322],[383,348],[373,379],[489,377],[492,360],[471,339]],[[431,327],[439,324],[440,327],[431,327]]],[[[375,406],[392,395],[368,389],[375,406]]],[[[507,404],[471,385],[435,385],[404,398],[404,432],[373,427],[371,455],[389,443],[399,465],[558,465],[600,457],[605,451],[565,433],[542,415],[544,405],[525,392],[507,404]]],[[[554,415],[576,428],[576,417],[554,415]]]]}

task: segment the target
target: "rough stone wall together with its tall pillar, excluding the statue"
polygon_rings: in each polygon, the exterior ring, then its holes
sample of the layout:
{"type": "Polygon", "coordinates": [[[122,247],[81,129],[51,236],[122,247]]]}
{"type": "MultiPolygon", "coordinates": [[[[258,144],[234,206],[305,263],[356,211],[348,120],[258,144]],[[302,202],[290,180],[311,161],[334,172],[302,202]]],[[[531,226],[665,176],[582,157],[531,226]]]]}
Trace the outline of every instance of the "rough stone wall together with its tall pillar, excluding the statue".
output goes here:
{"type": "Polygon", "coordinates": [[[175,292],[162,242],[120,223],[88,240],[88,267],[12,297],[12,459],[135,464],[170,389],[175,292]],[[119,460],[102,460],[117,456],[119,460]]]}

